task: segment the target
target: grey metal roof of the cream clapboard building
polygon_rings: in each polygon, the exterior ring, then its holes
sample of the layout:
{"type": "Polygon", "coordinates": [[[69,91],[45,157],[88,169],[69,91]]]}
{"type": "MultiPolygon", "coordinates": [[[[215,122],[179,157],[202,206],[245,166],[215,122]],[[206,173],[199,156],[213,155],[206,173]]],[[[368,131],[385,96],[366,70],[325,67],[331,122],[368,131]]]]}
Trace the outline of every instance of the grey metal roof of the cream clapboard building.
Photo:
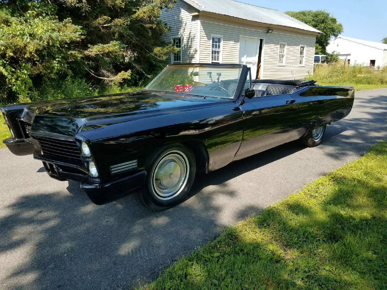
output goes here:
{"type": "Polygon", "coordinates": [[[298,28],[306,31],[320,32],[319,30],[294,19],[287,14],[275,9],[259,7],[235,0],[182,0],[192,5],[199,11],[206,11],[221,15],[228,15],[240,19],[251,20],[255,22],[281,25],[286,27],[298,28]]]}

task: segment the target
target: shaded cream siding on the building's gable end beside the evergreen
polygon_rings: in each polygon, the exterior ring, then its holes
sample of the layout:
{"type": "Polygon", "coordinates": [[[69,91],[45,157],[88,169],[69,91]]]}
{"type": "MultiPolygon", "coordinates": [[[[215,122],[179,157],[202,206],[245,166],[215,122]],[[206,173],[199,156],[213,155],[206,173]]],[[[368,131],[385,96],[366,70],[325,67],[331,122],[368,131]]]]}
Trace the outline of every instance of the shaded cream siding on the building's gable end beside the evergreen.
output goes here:
{"type": "MultiPolygon", "coordinates": [[[[171,27],[171,30],[161,39],[170,43],[171,38],[182,38],[182,62],[197,61],[197,29],[198,17],[191,16],[191,11],[175,3],[173,9],[163,9],[160,19],[171,27]]],[[[167,60],[171,62],[171,57],[167,60]]]]}

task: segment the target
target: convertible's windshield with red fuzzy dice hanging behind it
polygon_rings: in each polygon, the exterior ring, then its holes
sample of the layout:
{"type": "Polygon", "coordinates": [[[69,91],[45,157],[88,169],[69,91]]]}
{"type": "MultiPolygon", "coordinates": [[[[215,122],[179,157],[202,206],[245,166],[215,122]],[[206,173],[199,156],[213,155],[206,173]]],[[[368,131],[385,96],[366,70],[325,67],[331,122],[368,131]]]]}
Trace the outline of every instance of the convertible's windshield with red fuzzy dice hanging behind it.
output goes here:
{"type": "Polygon", "coordinates": [[[170,65],[145,89],[232,99],[241,70],[231,65],[170,65]]]}

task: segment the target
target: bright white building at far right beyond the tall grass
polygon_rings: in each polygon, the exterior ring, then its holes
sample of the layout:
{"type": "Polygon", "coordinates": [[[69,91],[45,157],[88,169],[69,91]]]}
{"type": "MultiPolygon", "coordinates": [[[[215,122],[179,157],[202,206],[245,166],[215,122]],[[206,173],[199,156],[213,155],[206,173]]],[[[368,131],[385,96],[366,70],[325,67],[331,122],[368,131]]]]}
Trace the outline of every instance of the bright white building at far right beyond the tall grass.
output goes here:
{"type": "Polygon", "coordinates": [[[355,63],[373,67],[387,65],[387,44],[338,36],[327,46],[327,52],[333,51],[339,53],[341,60],[346,60],[351,65],[355,63]]]}

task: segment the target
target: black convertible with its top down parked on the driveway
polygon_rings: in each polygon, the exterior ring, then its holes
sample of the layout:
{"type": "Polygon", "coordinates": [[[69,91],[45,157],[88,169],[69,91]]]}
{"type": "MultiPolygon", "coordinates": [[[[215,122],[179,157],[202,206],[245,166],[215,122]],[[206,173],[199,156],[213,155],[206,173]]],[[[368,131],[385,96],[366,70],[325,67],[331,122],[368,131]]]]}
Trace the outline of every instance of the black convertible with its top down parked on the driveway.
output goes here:
{"type": "Polygon", "coordinates": [[[197,171],[296,139],[319,145],[353,101],[353,87],[252,80],[245,65],[191,63],[168,65],[137,92],[0,110],[15,155],[80,181],[96,204],[137,189],[142,205],[162,210],[187,197],[197,171]]]}

